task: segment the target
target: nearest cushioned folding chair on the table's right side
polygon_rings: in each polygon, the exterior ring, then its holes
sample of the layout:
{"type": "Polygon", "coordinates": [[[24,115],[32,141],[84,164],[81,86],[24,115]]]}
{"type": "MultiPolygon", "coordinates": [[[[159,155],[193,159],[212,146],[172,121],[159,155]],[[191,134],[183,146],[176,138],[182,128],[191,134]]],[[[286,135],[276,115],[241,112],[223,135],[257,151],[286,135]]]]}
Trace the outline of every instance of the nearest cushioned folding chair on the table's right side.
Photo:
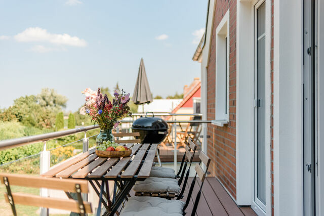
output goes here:
{"type": "Polygon", "coordinates": [[[199,154],[200,162],[195,166],[196,174],[191,182],[191,186],[188,192],[188,197],[186,199],[186,202],[182,202],[180,200],[168,200],[163,199],[160,197],[130,197],[128,202],[126,203],[123,210],[120,212],[120,216],[127,216],[127,215],[133,215],[133,216],[142,216],[142,215],[185,215],[186,208],[189,205],[189,202],[191,200],[191,195],[194,189],[194,186],[196,185],[196,177],[201,181],[201,184],[199,186],[199,190],[197,192],[197,196],[194,200],[193,208],[191,211],[191,216],[194,216],[196,214],[196,210],[198,207],[199,199],[201,196],[201,189],[203,188],[204,181],[206,179],[207,171],[210,165],[211,159],[204,153],[200,152],[199,154]],[[204,171],[204,168],[201,167],[201,163],[205,164],[206,170],[204,171]]]}

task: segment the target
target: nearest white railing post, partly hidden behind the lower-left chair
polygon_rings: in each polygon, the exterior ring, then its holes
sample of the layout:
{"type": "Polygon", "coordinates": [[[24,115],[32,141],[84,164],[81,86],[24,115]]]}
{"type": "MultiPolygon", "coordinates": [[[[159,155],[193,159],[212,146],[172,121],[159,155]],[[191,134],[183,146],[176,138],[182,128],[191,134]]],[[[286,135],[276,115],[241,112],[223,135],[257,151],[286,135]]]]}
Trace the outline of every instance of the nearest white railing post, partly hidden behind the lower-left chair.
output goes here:
{"type": "MultiPolygon", "coordinates": [[[[47,172],[50,169],[51,165],[51,152],[46,150],[46,141],[44,142],[43,151],[41,152],[40,160],[41,163],[41,175],[47,172]]],[[[49,192],[47,188],[41,188],[40,195],[43,197],[48,197],[49,192]]],[[[49,209],[48,208],[41,208],[41,213],[39,214],[41,216],[49,215],[49,209]]]]}

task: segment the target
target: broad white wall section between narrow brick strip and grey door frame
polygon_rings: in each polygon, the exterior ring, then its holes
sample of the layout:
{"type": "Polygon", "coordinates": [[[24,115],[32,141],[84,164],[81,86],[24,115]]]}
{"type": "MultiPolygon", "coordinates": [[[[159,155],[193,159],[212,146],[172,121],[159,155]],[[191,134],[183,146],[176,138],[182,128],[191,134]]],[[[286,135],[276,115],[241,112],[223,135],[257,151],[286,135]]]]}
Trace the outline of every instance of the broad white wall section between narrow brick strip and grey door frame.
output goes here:
{"type": "Polygon", "coordinates": [[[274,1],[274,215],[303,215],[303,1],[274,1]]]}

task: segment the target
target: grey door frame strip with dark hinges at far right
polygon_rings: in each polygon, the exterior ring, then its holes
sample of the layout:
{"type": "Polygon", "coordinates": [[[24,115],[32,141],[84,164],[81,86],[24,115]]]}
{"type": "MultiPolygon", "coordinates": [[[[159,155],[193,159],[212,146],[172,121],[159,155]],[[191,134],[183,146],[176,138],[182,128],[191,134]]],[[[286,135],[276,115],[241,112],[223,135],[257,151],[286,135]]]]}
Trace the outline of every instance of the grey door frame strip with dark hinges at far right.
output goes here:
{"type": "Polygon", "coordinates": [[[303,143],[304,215],[315,215],[316,152],[316,70],[315,1],[304,0],[303,29],[303,143]]]}

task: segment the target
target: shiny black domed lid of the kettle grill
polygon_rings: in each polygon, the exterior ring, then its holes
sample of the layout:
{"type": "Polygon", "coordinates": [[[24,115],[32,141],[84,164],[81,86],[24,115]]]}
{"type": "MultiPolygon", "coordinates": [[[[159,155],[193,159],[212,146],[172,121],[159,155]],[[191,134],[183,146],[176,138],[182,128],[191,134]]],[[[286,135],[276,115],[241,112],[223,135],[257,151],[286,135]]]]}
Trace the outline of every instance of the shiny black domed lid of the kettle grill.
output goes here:
{"type": "Polygon", "coordinates": [[[132,128],[145,129],[145,130],[155,129],[155,130],[167,131],[169,126],[165,120],[154,117],[153,112],[146,112],[145,117],[138,118],[133,122],[132,128]],[[147,116],[147,113],[152,113],[153,117],[147,116]]]}

